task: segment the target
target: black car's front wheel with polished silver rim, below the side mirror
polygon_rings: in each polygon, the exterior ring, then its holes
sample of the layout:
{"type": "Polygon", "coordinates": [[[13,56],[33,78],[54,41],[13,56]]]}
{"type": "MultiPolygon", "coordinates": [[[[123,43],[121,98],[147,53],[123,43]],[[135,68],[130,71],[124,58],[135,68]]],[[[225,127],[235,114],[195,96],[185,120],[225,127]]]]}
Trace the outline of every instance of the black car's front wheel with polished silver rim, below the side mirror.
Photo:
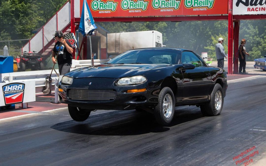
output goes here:
{"type": "Polygon", "coordinates": [[[154,108],[156,121],[161,125],[168,125],[174,117],[175,99],[174,94],[169,87],[164,87],[158,96],[159,103],[154,108]]]}

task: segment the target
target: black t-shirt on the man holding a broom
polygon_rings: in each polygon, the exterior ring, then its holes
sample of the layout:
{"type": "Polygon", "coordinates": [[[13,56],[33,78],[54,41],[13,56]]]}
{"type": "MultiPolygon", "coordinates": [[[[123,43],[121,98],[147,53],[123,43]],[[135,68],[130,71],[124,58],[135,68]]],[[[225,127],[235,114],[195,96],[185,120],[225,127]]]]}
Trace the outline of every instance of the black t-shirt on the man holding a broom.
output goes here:
{"type": "MultiPolygon", "coordinates": [[[[55,52],[55,55],[57,55],[57,52],[61,44],[62,43],[59,41],[56,42],[55,47],[53,48],[53,52],[55,52]]],[[[72,47],[69,41],[66,41],[66,44],[72,47]]],[[[63,44],[61,45],[61,48],[58,53],[57,63],[59,65],[65,64],[65,63],[72,64],[72,54],[67,51],[66,47],[63,44]]]]}

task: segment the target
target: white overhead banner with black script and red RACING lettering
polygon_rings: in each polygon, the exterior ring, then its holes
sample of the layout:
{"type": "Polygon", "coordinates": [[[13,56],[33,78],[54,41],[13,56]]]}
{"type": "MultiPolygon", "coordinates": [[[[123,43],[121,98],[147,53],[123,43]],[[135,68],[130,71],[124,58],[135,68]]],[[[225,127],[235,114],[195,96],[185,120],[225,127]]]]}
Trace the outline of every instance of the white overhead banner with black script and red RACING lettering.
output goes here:
{"type": "Polygon", "coordinates": [[[265,0],[233,0],[233,15],[266,14],[265,0]]]}

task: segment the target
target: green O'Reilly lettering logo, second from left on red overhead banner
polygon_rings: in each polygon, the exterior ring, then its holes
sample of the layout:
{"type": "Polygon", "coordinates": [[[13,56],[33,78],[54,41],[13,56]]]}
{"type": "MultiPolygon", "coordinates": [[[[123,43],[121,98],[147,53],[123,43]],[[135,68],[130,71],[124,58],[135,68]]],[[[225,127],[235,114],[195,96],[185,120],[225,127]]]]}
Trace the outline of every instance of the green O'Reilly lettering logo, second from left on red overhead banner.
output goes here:
{"type": "Polygon", "coordinates": [[[140,9],[140,10],[146,10],[148,6],[149,1],[132,1],[132,0],[122,0],[121,1],[121,8],[123,10],[128,9],[140,9]]]}

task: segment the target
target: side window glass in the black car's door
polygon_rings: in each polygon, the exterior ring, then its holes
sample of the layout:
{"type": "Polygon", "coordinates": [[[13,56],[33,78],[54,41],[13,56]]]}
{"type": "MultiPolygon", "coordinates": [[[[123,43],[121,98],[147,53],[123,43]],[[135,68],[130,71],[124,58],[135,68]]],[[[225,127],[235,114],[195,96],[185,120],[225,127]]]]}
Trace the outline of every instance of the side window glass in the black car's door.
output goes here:
{"type": "Polygon", "coordinates": [[[189,63],[193,64],[195,67],[203,66],[201,60],[192,52],[184,51],[181,56],[181,64],[189,63]]]}

